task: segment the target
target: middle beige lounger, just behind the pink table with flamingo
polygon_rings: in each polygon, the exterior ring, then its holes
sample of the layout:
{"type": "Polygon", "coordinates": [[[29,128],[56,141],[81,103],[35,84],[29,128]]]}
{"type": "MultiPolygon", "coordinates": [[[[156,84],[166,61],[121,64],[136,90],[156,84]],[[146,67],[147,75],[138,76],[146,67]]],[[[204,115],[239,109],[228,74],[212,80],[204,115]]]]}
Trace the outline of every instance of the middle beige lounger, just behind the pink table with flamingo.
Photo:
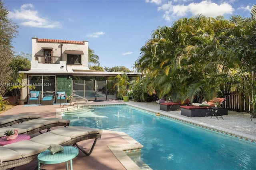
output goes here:
{"type": "Polygon", "coordinates": [[[59,118],[38,118],[33,119],[30,121],[17,123],[8,127],[2,127],[0,128],[0,137],[5,136],[4,131],[5,130],[14,130],[18,129],[19,134],[35,134],[37,132],[40,132],[42,130],[50,131],[50,128],[52,127],[59,127],[59,126],[69,126],[70,120],[68,119],[59,119],[59,118]]]}

